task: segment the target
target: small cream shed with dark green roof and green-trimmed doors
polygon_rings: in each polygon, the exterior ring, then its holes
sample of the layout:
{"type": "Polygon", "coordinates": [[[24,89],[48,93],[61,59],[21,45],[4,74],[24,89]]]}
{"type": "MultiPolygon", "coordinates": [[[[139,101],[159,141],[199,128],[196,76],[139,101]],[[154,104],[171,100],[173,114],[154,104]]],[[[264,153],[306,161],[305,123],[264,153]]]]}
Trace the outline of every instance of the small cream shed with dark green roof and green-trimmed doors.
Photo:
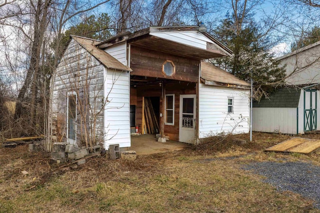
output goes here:
{"type": "Polygon", "coordinates": [[[253,102],[252,130],[281,134],[304,134],[317,130],[317,86],[280,88],[268,99],[253,102]]]}

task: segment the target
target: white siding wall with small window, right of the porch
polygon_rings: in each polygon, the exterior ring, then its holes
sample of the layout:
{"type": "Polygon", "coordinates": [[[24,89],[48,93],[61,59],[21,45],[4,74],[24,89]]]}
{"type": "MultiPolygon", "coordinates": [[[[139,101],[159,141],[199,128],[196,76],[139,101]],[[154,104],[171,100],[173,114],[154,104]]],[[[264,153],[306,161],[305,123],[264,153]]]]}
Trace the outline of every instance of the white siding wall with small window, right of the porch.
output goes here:
{"type": "Polygon", "coordinates": [[[199,84],[199,138],[249,131],[249,90],[199,84]],[[228,98],[233,97],[233,114],[228,98]]]}

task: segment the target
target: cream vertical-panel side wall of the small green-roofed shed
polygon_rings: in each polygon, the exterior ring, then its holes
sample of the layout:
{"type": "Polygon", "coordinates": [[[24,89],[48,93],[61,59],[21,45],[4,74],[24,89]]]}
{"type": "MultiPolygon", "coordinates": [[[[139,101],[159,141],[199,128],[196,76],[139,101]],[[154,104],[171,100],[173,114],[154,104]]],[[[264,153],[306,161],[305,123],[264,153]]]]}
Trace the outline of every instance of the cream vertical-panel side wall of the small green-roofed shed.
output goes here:
{"type": "MultiPolygon", "coordinates": [[[[253,131],[296,134],[296,108],[256,107],[252,117],[253,131]]],[[[303,117],[301,119],[303,125],[303,117]]],[[[299,131],[303,133],[303,127],[299,131]]]]}

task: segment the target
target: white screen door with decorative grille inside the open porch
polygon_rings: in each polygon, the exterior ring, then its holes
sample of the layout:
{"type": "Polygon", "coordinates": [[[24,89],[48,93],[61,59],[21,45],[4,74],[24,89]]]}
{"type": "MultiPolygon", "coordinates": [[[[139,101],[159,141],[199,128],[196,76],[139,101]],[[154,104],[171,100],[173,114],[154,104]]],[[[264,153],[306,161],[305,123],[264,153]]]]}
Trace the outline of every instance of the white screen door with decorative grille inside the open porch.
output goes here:
{"type": "Polygon", "coordinates": [[[180,95],[179,141],[194,143],[195,95],[180,95]]]}

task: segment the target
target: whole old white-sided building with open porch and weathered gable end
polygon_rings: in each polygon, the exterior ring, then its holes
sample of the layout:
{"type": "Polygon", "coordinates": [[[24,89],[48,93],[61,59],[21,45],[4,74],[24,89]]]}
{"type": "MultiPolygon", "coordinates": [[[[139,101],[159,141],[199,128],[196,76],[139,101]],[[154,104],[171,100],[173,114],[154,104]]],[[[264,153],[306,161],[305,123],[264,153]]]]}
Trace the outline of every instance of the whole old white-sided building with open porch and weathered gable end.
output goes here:
{"type": "Polygon", "coordinates": [[[131,127],[145,133],[153,124],[185,143],[248,132],[249,84],[201,62],[232,52],[197,29],[149,27],[103,42],[71,36],[52,78],[57,141],[80,146],[93,136],[105,149],[130,147],[131,127]]]}

